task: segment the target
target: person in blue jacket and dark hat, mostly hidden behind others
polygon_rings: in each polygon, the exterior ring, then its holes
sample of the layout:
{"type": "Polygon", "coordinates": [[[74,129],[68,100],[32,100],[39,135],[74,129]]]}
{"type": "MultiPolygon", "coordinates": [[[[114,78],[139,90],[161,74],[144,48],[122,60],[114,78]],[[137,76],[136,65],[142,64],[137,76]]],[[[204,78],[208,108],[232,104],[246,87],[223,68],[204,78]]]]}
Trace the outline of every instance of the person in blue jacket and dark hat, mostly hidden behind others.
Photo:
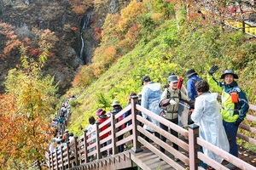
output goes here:
{"type": "Polygon", "coordinates": [[[187,81],[188,96],[190,99],[195,100],[195,97],[197,96],[197,92],[195,90],[195,82],[202,79],[197,77],[197,73],[194,69],[189,69],[186,72],[186,75],[189,77],[189,80],[187,81]]]}

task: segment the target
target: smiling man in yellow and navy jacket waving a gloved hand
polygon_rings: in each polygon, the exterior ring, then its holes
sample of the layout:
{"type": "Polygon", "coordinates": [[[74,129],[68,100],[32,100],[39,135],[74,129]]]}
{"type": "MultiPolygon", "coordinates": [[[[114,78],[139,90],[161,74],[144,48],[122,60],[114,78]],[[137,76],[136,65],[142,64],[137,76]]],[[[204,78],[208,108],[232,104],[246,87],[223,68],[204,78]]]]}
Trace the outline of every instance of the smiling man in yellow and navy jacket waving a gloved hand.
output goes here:
{"type": "MultiPolygon", "coordinates": [[[[212,75],[218,70],[217,65],[213,65],[208,71],[207,80],[210,86],[215,89],[222,89],[221,95],[221,116],[223,117],[224,129],[230,143],[230,154],[238,157],[238,147],[236,144],[236,134],[239,124],[247,115],[249,105],[247,95],[238,87],[235,79],[237,74],[232,70],[225,70],[221,75],[224,82],[218,82],[212,75]]],[[[226,167],[235,169],[236,166],[229,163],[226,167]]]]}

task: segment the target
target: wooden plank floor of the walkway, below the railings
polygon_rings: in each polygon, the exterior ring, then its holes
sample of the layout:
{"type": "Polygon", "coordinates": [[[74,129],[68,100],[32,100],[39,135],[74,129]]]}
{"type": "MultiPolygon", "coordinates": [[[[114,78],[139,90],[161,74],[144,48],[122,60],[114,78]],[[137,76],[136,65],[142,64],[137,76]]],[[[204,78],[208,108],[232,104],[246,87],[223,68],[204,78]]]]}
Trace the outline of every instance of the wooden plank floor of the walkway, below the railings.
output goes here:
{"type": "MultiPolygon", "coordinates": [[[[173,158],[171,154],[169,156],[173,158]]],[[[240,147],[239,158],[243,161],[247,161],[247,163],[250,163],[256,169],[256,153],[253,151],[240,147]]],[[[189,169],[189,166],[185,165],[183,161],[177,161],[177,163],[182,167],[189,169]]],[[[225,165],[226,163],[228,162],[223,161],[222,164],[225,165]]],[[[108,156],[100,160],[84,163],[79,167],[73,167],[71,169],[113,170],[125,168],[132,169],[132,167],[134,167],[134,169],[140,167],[140,169],[143,170],[175,170],[175,168],[166,163],[166,161],[160,161],[159,156],[156,156],[151,150],[144,150],[144,147],[143,151],[138,153],[135,153],[132,150],[126,150],[115,156],[108,156]]],[[[236,168],[236,170],[240,170],[240,168],[236,168]]]]}

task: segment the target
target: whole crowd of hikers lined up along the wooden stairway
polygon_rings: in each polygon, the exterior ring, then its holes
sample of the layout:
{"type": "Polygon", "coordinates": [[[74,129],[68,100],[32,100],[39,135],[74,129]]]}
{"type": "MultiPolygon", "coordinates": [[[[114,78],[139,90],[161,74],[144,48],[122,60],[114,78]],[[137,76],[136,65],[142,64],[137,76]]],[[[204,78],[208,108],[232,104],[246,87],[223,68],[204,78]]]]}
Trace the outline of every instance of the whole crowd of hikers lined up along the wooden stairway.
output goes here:
{"type": "MultiPolygon", "coordinates": [[[[220,149],[230,152],[231,155],[238,157],[238,147],[236,144],[236,134],[239,124],[244,120],[247,115],[249,105],[247,101],[246,94],[239,88],[235,79],[238,79],[237,74],[232,70],[225,70],[221,75],[220,79],[223,81],[218,82],[213,74],[218,71],[218,66],[213,65],[212,68],[207,72],[207,80],[203,80],[198,77],[198,74],[194,69],[189,69],[186,72],[186,76],[189,78],[186,87],[183,85],[183,78],[177,77],[173,72],[168,75],[167,82],[162,89],[162,86],[158,82],[152,82],[150,77],[142,77],[143,89],[138,94],[139,105],[143,108],[152,111],[154,114],[166,118],[166,120],[175,123],[181,127],[186,127],[189,124],[189,119],[191,122],[195,122],[200,126],[200,137],[207,140],[209,143],[218,146],[220,149]],[[216,90],[216,92],[221,92],[221,98],[218,98],[218,93],[210,92],[210,87],[216,90]],[[189,112],[192,113],[189,116],[189,112]]],[[[127,105],[131,105],[131,97],[137,96],[136,93],[131,92],[128,96],[127,105]]],[[[119,100],[113,100],[111,104],[113,111],[106,112],[102,108],[98,108],[96,111],[97,119],[94,116],[90,116],[90,125],[86,127],[88,131],[95,127],[95,123],[101,124],[108,120],[110,113],[117,114],[122,111],[123,108],[119,103],[119,100]]],[[[125,107],[126,107],[125,106],[125,107]]],[[[68,105],[68,100],[61,107],[61,114],[53,122],[53,126],[58,129],[62,127],[61,117],[68,117],[70,115],[70,107],[68,105]],[[58,127],[59,126],[59,127],[58,127]]],[[[127,111],[122,116],[119,116],[117,122],[121,121],[125,117],[131,115],[131,111],[127,111]]],[[[155,120],[153,117],[148,116],[148,114],[141,113],[144,119],[149,122],[154,123],[154,125],[169,131],[172,135],[178,137],[178,133],[175,129],[168,129],[166,125],[155,120]]],[[[126,126],[130,126],[131,121],[125,123],[118,128],[118,131],[124,129],[126,126]]],[[[154,133],[154,135],[166,142],[166,137],[160,135],[154,131],[152,127],[148,127],[146,124],[141,124],[145,130],[149,133],[154,133]]],[[[108,128],[108,124],[101,127],[100,132],[108,128]]],[[[132,134],[132,131],[130,132],[132,134]]],[[[95,133],[92,135],[96,135],[95,133]]],[[[61,144],[65,144],[68,140],[71,140],[71,133],[67,134],[66,137],[59,135],[58,139],[53,141],[53,144],[59,144],[57,147],[52,147],[54,149],[61,147],[61,144]]],[[[108,137],[108,133],[101,136],[101,139],[108,137]]],[[[124,138],[124,135],[120,135],[118,140],[124,138]]],[[[151,142],[147,136],[143,135],[143,138],[151,142]]],[[[95,141],[91,141],[93,143],[95,141]]],[[[102,147],[106,146],[110,141],[102,144],[102,147]]],[[[173,148],[178,150],[178,145],[173,143],[173,148]]],[[[92,151],[93,149],[89,150],[92,151]]],[[[125,144],[120,144],[118,148],[119,152],[125,150],[125,144]]],[[[165,148],[160,147],[160,151],[165,153],[165,148]]],[[[111,154],[112,150],[109,150],[111,154]]],[[[220,156],[215,155],[210,150],[201,148],[201,152],[210,156],[213,160],[222,162],[223,159],[220,156]]],[[[108,155],[107,151],[102,151],[102,157],[108,155]]],[[[90,156],[90,161],[96,159],[96,156],[90,156]]],[[[179,159],[174,156],[175,161],[179,159]]],[[[160,158],[160,161],[161,158],[160,158]]],[[[225,165],[230,169],[235,169],[231,163],[225,165]]],[[[207,166],[205,162],[201,161],[201,167],[206,169],[212,169],[212,167],[207,166]]]]}

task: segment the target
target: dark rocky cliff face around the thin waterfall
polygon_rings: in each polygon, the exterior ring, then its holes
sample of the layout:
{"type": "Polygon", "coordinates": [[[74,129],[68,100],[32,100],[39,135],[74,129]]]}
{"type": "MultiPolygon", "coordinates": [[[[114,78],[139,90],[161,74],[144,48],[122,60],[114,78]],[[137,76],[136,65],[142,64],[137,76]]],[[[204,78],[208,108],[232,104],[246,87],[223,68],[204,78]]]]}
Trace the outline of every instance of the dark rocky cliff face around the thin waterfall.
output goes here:
{"type": "MultiPolygon", "coordinates": [[[[64,90],[70,86],[76,69],[79,65],[90,63],[94,49],[98,41],[94,38],[94,28],[101,27],[108,13],[118,13],[130,1],[108,0],[102,3],[102,7],[90,8],[86,14],[90,15],[89,23],[81,33],[84,16],[73,13],[69,0],[0,0],[0,20],[17,28],[26,26],[28,29],[36,27],[39,30],[49,29],[54,31],[59,38],[55,47],[55,54],[59,59],[59,65],[47,67],[47,72],[55,74],[56,81],[64,90]],[[77,31],[70,31],[69,27],[76,27],[77,31]],[[84,49],[81,49],[81,36],[84,39],[84,49]],[[81,56],[83,50],[83,56],[81,56]],[[65,71],[63,71],[65,70],[65,71]]],[[[0,35],[1,37],[1,35],[0,35]]],[[[3,44],[3,42],[1,42],[3,44]]],[[[0,53],[2,48],[0,48],[0,53]]],[[[13,59],[0,59],[0,82],[3,84],[9,69],[19,64],[19,56],[13,59]],[[15,62],[14,62],[15,61],[15,62]]],[[[0,87],[3,93],[3,86],[0,87]]]]}

